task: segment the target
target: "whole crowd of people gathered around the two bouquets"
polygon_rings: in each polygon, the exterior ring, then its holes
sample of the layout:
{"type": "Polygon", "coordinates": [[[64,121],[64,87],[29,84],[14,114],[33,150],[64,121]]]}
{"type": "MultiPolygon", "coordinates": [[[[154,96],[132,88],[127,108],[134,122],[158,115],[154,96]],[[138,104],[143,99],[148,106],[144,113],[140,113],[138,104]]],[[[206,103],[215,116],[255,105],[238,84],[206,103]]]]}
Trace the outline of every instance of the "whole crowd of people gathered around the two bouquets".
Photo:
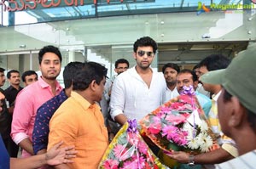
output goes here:
{"type": "MultiPolygon", "coordinates": [[[[65,88],[56,81],[62,57],[54,46],[39,51],[42,76],[33,70],[22,74],[24,88],[20,87],[20,72],[9,70],[10,86],[0,88],[0,149],[4,152],[0,168],[96,169],[108,144],[127,120],[143,119],[176,98],[184,86],[195,89],[219,148],[199,155],[183,151],[168,154],[184,164],[180,168],[216,164],[226,168],[224,162],[253,153],[255,44],[232,60],[212,54],[193,70],[181,70],[168,63],[162,72],[151,67],[157,49],[151,37],[137,39],[133,44],[136,65],[129,68],[126,59],[116,60],[116,75],[111,78],[108,69],[99,63],[71,62],[63,71],[65,88]],[[15,159],[19,147],[21,157],[15,159]]],[[[4,71],[0,68],[0,87],[5,82],[4,71]]],[[[152,150],[156,153],[159,149],[152,150]]]]}

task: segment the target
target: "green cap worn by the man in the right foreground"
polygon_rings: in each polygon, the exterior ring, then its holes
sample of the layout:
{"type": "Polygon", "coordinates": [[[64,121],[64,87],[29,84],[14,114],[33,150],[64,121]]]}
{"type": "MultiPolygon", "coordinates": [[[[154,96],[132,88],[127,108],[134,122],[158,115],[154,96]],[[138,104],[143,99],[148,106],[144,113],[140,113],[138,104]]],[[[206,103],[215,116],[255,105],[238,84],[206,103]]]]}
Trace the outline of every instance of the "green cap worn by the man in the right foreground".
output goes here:
{"type": "Polygon", "coordinates": [[[200,80],[222,85],[248,110],[256,113],[256,43],[237,54],[226,69],[209,71],[200,80]]]}

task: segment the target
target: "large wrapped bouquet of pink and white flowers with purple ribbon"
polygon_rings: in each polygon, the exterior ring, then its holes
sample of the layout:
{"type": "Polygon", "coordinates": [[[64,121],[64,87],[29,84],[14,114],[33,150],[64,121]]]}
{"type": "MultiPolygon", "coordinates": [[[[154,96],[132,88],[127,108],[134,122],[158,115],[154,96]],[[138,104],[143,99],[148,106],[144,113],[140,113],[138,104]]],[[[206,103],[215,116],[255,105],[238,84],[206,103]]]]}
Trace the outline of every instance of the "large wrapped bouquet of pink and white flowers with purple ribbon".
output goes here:
{"type": "Polygon", "coordinates": [[[146,115],[140,125],[143,134],[170,153],[198,154],[218,148],[192,86],[183,87],[181,95],[146,115]]]}

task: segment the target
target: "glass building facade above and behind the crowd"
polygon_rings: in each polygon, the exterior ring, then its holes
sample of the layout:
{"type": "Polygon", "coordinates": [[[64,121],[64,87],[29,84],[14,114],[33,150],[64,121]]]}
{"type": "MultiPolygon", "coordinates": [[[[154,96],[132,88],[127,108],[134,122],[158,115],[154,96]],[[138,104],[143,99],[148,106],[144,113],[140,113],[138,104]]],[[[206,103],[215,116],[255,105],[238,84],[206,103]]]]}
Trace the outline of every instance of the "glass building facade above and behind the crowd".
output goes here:
{"type": "MultiPolygon", "coordinates": [[[[17,8],[25,8],[18,2],[17,8]]],[[[31,7],[33,2],[26,1],[31,7]]],[[[91,60],[112,76],[116,59],[135,65],[132,44],[139,37],[158,42],[152,66],[159,70],[167,62],[191,68],[209,54],[231,58],[256,42],[256,4],[247,0],[37,2],[34,9],[9,12],[15,3],[0,0],[0,66],[6,70],[38,70],[38,51],[49,44],[61,49],[63,67],[91,60]]]]}

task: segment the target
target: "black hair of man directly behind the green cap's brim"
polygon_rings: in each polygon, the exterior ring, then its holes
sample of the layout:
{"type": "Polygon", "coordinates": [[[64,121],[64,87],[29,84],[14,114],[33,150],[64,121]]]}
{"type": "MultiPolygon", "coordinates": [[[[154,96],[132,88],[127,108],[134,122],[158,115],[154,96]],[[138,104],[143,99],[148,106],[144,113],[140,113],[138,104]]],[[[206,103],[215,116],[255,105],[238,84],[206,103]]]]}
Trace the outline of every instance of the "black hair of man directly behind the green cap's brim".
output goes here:
{"type": "Polygon", "coordinates": [[[231,60],[222,54],[212,54],[202,59],[199,67],[206,66],[208,71],[225,69],[230,65],[231,60]]]}

